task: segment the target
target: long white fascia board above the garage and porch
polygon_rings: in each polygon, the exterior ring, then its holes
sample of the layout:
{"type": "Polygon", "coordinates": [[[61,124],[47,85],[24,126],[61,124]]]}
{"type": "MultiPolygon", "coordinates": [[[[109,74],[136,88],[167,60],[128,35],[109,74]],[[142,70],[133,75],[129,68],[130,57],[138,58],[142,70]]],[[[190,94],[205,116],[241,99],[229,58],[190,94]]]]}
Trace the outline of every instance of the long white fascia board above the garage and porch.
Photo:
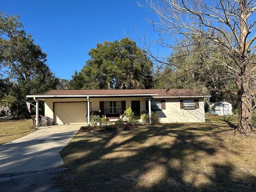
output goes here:
{"type": "Polygon", "coordinates": [[[124,96],[157,96],[158,94],[116,94],[116,95],[27,95],[27,98],[58,98],[58,97],[124,97],[124,96]]]}

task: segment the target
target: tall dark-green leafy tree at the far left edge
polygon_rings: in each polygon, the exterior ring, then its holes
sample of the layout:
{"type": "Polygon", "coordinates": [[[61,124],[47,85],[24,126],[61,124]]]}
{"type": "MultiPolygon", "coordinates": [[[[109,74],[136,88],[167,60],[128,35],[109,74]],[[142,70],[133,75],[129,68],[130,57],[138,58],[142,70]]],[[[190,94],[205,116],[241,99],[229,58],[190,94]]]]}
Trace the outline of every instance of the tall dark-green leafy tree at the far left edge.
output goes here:
{"type": "MultiPolygon", "coordinates": [[[[0,12],[0,70],[12,80],[12,86],[4,94],[15,99],[12,109],[27,117],[28,110],[22,102],[26,95],[56,89],[59,79],[46,64],[46,53],[34,44],[32,36],[26,34],[18,19],[18,16],[0,12]]],[[[43,108],[42,104],[40,108],[43,108]]]]}

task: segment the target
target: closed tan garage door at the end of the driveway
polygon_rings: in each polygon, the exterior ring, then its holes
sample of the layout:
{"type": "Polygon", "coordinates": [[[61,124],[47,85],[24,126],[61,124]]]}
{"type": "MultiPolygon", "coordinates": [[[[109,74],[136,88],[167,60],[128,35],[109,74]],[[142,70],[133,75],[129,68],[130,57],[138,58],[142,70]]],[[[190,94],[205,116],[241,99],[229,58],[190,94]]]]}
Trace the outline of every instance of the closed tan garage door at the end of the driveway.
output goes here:
{"type": "Polygon", "coordinates": [[[86,102],[54,103],[54,124],[86,122],[86,102]]]}

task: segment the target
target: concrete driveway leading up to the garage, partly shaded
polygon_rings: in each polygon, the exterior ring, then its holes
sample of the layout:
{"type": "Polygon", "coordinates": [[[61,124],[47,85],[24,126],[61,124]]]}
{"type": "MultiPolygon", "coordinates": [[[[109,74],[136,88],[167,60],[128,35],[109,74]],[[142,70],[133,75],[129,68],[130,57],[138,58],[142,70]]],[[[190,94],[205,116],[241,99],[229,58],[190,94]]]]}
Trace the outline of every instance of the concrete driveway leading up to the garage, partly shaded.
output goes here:
{"type": "Polygon", "coordinates": [[[0,145],[0,174],[32,172],[64,164],[60,151],[82,124],[52,126],[0,145]]]}

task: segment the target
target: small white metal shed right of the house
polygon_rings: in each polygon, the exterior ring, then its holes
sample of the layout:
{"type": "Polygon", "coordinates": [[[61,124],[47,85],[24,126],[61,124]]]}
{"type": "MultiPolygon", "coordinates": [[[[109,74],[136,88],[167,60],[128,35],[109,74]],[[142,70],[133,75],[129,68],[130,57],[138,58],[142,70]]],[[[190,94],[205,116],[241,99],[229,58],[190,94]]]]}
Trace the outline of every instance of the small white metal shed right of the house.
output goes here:
{"type": "Polygon", "coordinates": [[[226,101],[220,101],[210,104],[210,110],[215,111],[220,116],[230,115],[232,116],[232,105],[226,101]]]}

